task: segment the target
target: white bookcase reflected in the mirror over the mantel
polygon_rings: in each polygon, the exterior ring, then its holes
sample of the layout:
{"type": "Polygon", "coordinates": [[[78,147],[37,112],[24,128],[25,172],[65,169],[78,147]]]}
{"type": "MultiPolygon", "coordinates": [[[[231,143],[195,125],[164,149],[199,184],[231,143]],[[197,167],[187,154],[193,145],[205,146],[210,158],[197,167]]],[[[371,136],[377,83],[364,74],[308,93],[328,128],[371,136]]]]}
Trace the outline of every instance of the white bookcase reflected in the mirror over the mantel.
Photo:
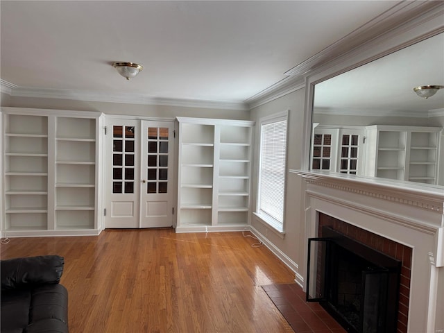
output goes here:
{"type": "Polygon", "coordinates": [[[368,126],[366,175],[436,184],[441,131],[433,127],[368,126]]]}

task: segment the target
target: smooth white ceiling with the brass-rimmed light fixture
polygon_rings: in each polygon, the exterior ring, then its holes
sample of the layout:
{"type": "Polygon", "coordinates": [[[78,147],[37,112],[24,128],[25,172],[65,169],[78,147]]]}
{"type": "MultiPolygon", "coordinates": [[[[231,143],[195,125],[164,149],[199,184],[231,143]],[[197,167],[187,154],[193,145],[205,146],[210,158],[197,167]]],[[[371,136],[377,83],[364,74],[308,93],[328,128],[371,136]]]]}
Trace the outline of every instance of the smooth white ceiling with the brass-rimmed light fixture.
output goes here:
{"type": "Polygon", "coordinates": [[[242,102],[399,2],[2,0],[1,80],[40,92],[242,102]],[[114,61],[144,70],[128,81],[114,61]]]}

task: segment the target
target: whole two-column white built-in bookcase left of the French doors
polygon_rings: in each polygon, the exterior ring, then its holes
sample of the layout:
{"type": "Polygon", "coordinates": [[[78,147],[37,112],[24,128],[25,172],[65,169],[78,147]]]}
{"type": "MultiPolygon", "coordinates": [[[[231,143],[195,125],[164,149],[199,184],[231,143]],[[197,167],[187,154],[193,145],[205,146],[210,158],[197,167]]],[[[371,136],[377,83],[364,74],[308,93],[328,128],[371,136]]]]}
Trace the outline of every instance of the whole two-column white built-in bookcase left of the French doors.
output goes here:
{"type": "Polygon", "coordinates": [[[98,234],[101,114],[2,108],[8,237],[98,234]],[[69,114],[69,116],[68,116],[69,114]]]}

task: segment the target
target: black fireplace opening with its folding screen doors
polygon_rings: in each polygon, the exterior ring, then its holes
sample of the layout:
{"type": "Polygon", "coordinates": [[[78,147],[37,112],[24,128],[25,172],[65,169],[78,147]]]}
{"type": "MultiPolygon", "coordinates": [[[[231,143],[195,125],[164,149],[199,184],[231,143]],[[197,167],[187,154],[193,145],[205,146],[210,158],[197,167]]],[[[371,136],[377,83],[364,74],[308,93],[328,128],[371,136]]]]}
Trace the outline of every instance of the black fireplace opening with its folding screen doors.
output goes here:
{"type": "Polygon", "coordinates": [[[307,301],[348,332],[396,332],[401,262],[330,227],[309,239],[307,301]]]}

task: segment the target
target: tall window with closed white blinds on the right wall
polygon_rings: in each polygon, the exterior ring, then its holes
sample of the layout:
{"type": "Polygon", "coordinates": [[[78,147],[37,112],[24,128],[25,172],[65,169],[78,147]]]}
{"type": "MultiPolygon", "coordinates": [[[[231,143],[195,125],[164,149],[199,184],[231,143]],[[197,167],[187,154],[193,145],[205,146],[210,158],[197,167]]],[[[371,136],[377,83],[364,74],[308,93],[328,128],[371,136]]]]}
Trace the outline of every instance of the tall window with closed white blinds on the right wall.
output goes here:
{"type": "Polygon", "coordinates": [[[287,111],[261,119],[257,212],[266,223],[283,231],[287,111]]]}

